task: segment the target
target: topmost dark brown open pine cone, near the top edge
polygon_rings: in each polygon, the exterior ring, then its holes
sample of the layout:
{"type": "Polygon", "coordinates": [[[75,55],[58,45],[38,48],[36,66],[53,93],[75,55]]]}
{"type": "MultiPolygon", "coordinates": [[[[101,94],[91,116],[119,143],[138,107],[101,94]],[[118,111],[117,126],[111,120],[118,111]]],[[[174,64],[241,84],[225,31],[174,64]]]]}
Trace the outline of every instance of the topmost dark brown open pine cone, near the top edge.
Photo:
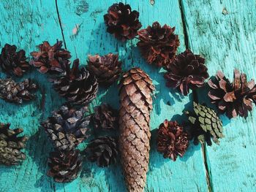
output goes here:
{"type": "Polygon", "coordinates": [[[132,11],[129,4],[113,4],[108,8],[108,14],[104,15],[108,33],[122,41],[135,38],[141,27],[139,15],[139,12],[132,11]]]}

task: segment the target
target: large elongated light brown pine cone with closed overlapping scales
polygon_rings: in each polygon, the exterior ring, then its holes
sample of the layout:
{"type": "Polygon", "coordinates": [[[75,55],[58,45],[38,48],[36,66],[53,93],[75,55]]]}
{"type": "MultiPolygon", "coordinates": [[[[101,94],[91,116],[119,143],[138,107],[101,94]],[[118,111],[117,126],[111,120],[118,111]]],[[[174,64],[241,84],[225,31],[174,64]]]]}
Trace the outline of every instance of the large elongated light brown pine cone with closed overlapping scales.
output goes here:
{"type": "Polygon", "coordinates": [[[139,68],[121,80],[119,111],[121,164],[128,191],[143,191],[148,171],[152,80],[139,68]]]}

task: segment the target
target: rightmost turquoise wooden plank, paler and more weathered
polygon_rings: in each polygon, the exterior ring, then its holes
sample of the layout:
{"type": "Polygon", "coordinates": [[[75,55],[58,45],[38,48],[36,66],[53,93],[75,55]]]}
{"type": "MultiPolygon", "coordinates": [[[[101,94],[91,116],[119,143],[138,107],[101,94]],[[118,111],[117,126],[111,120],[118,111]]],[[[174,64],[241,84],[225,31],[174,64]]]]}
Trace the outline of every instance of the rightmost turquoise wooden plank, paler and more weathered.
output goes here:
{"type": "MultiPolygon", "coordinates": [[[[256,4],[249,1],[182,0],[189,47],[206,58],[210,75],[222,70],[233,80],[233,69],[248,79],[255,75],[256,4]],[[200,7],[200,8],[199,8],[200,7]]],[[[206,94],[200,90],[198,94],[206,94]]],[[[200,97],[206,101],[206,97],[200,97]]],[[[255,191],[256,112],[245,120],[227,120],[220,146],[206,148],[213,191],[255,191]]]]}

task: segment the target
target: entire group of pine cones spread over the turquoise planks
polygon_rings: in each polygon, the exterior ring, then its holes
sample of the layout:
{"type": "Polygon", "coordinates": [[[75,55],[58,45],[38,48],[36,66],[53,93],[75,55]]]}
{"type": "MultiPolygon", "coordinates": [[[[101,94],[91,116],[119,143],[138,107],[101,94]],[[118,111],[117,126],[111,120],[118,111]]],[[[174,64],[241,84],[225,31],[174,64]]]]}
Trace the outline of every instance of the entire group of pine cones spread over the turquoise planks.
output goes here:
{"type": "MultiPolygon", "coordinates": [[[[209,74],[205,59],[191,50],[176,55],[180,42],[174,33],[175,27],[154,22],[152,26],[140,29],[139,12],[123,3],[110,6],[104,20],[107,31],[121,41],[138,36],[137,45],[146,62],[166,70],[167,87],[187,96],[190,89],[194,91],[206,85],[209,74]]],[[[148,171],[151,95],[154,92],[148,74],[133,68],[122,75],[119,112],[109,104],[101,104],[94,108],[94,114],[85,115],[88,105],[97,96],[99,85],[108,88],[121,76],[118,55],[89,55],[87,65],[83,67],[79,59],[71,64],[71,54],[62,47],[61,41],[53,46],[42,42],[30,55],[28,61],[24,50],[17,51],[15,45],[4,45],[0,67],[8,77],[0,80],[0,98],[16,104],[34,99],[36,96],[32,91],[36,91],[38,85],[33,80],[16,82],[11,78],[22,77],[34,67],[40,73],[48,74],[54,90],[67,100],[41,123],[54,146],[49,156],[48,175],[56,182],[70,182],[78,177],[83,156],[102,167],[116,163],[120,153],[128,190],[143,191],[148,171]],[[81,153],[77,147],[89,137],[90,123],[94,135],[97,136],[99,131],[119,131],[119,139],[108,135],[97,137],[81,153]]],[[[208,85],[211,102],[228,118],[238,115],[246,118],[252,111],[252,102],[256,103],[255,81],[247,82],[246,74],[237,69],[233,82],[222,72],[217,72],[216,77],[208,80],[208,85]]],[[[224,137],[222,121],[206,105],[194,102],[193,110],[185,114],[187,123],[180,125],[165,120],[158,128],[157,150],[164,158],[176,161],[178,155],[182,157],[189,147],[189,140],[195,145],[205,142],[212,145],[212,141],[219,144],[219,139],[224,137]]],[[[10,129],[10,124],[0,124],[0,164],[15,165],[25,159],[26,155],[20,150],[28,138],[18,137],[22,131],[21,128],[10,129]]]]}

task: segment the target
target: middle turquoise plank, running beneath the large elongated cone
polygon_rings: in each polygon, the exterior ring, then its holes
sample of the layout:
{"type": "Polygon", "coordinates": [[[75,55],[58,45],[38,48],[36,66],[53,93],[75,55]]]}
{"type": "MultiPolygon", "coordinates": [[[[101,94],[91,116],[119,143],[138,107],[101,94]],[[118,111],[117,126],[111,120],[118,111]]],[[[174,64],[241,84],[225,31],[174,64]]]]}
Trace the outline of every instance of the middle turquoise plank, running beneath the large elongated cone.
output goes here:
{"type": "MultiPolygon", "coordinates": [[[[103,15],[114,2],[116,1],[58,1],[67,48],[74,58],[80,58],[82,64],[86,64],[89,54],[114,52],[120,55],[124,70],[130,69],[132,66],[140,66],[150,74],[158,91],[157,98],[154,99],[154,112],[151,118],[151,129],[154,129],[165,118],[170,119],[173,118],[173,115],[181,115],[184,105],[192,100],[192,96],[181,97],[175,92],[169,92],[165,87],[162,71],[159,73],[159,69],[148,66],[141,58],[136,47],[137,40],[127,43],[118,42],[106,32],[103,15]],[[85,9],[85,7],[87,8],[85,9]],[[78,32],[74,34],[74,31],[77,31],[75,29],[77,26],[79,26],[78,32]],[[167,101],[170,101],[170,106],[167,105],[167,101]]],[[[162,24],[176,26],[176,33],[181,39],[179,52],[185,49],[184,29],[178,0],[156,1],[154,6],[150,4],[150,1],[123,2],[131,4],[132,9],[137,9],[140,12],[143,28],[156,20],[162,24]]],[[[93,105],[105,101],[118,108],[117,89],[117,85],[113,85],[108,91],[101,89],[93,105]]],[[[189,147],[184,158],[173,162],[162,158],[153,145],[146,191],[207,191],[204,168],[199,146],[189,147]]],[[[75,181],[79,185],[68,184],[70,188],[75,188],[77,191],[79,186],[80,191],[124,191],[124,179],[119,164],[110,166],[109,169],[99,169],[95,164],[86,163],[84,169],[86,174],[82,173],[81,177],[75,181]]]]}

